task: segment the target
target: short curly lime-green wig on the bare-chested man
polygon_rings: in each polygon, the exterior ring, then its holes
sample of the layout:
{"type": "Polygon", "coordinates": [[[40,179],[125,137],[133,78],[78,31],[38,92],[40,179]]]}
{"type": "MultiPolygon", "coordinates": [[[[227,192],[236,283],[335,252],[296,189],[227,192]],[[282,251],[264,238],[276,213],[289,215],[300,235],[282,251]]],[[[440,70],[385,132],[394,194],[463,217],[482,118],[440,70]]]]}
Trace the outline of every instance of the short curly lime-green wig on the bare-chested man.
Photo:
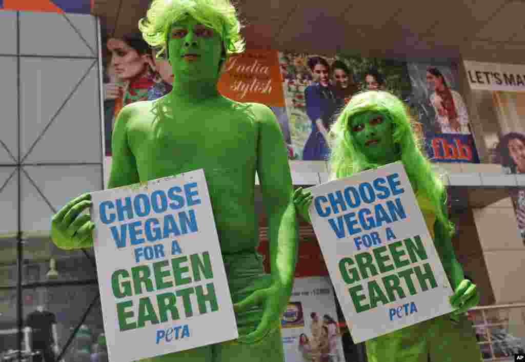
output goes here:
{"type": "Polygon", "coordinates": [[[153,0],[146,17],[139,21],[139,29],[148,44],[159,48],[157,56],[167,53],[172,25],[188,15],[220,35],[226,56],[244,51],[241,25],[229,0],[153,0]]]}

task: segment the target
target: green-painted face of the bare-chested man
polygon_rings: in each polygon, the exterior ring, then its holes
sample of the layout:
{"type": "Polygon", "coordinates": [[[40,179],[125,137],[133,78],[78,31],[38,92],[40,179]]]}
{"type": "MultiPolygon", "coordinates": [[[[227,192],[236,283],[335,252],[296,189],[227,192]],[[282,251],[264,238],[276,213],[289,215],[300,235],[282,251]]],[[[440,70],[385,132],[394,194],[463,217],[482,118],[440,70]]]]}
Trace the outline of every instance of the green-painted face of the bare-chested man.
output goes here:
{"type": "Polygon", "coordinates": [[[172,26],[168,46],[175,80],[218,78],[223,45],[212,28],[192,17],[181,19],[172,26]]]}

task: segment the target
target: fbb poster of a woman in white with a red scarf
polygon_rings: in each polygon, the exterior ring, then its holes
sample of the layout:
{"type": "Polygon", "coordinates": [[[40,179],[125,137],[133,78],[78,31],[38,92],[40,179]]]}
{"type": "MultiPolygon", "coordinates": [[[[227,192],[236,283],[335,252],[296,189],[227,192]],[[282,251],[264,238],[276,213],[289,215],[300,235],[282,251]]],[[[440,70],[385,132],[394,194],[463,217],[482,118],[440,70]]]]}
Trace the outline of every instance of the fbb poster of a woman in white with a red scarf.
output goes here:
{"type": "Polygon", "coordinates": [[[409,105],[421,124],[432,162],[479,163],[463,96],[450,65],[408,63],[409,105]]]}

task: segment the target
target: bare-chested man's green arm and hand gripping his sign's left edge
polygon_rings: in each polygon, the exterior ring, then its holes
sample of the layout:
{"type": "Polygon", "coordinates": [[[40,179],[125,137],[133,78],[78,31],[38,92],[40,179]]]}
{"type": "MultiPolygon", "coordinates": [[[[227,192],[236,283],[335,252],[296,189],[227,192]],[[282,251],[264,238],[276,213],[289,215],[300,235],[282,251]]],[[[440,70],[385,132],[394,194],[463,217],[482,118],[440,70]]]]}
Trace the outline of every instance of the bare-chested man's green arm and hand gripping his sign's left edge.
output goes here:
{"type": "MultiPolygon", "coordinates": [[[[128,146],[127,123],[133,108],[122,108],[113,131],[112,149],[113,160],[109,188],[130,185],[139,182],[135,160],[128,146]]],[[[95,224],[91,222],[91,215],[82,214],[91,207],[91,195],[82,194],[72,199],[51,219],[51,240],[61,249],[83,249],[93,246],[95,224]]]]}

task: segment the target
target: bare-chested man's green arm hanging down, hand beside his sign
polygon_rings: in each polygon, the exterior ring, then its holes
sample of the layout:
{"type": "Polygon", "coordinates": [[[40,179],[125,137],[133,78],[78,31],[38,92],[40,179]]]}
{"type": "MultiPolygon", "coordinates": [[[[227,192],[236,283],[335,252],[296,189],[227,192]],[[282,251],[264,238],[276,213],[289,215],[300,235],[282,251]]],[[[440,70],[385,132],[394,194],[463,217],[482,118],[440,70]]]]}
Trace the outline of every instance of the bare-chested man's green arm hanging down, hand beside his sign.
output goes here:
{"type": "Polygon", "coordinates": [[[291,295],[297,262],[297,218],[285,142],[271,110],[255,104],[253,107],[259,120],[257,174],[268,215],[272,285],[235,305],[238,312],[255,305],[264,305],[265,309],[257,329],[239,337],[241,343],[255,343],[279,328],[291,295]]]}

